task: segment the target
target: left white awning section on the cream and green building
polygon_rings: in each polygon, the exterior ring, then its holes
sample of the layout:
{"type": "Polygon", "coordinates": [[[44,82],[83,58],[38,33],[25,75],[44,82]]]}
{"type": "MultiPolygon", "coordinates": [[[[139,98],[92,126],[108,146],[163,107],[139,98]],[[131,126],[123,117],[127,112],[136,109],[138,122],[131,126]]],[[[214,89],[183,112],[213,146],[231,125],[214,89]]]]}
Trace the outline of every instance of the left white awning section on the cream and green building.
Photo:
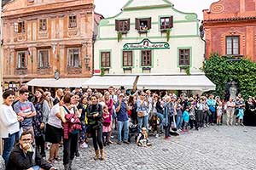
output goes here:
{"type": "Polygon", "coordinates": [[[113,88],[119,88],[124,86],[125,88],[133,88],[133,83],[136,80],[136,76],[94,76],[90,80],[83,83],[83,88],[99,88],[104,89],[109,86],[113,88]]]}

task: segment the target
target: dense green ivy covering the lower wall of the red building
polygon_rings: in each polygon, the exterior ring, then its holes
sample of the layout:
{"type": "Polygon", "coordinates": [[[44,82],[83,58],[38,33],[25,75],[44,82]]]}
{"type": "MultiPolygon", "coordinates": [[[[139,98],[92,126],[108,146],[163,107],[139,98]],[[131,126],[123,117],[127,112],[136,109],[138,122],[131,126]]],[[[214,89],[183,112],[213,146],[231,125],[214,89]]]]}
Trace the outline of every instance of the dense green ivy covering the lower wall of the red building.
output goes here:
{"type": "Polygon", "coordinates": [[[205,62],[203,71],[216,84],[216,90],[212,94],[224,98],[227,82],[236,80],[245,99],[256,96],[256,63],[249,59],[234,60],[233,57],[220,57],[218,53],[214,53],[205,62]]]}

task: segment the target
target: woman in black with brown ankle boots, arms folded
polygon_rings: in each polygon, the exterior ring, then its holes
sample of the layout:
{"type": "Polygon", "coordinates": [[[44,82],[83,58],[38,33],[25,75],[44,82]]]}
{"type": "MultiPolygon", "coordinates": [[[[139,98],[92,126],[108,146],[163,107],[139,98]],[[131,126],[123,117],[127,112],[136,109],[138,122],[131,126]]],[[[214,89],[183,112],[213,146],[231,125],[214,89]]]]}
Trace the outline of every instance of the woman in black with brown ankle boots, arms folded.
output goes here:
{"type": "Polygon", "coordinates": [[[93,146],[95,150],[94,159],[99,159],[101,152],[101,160],[105,159],[103,142],[102,142],[102,105],[98,104],[96,95],[91,95],[90,105],[87,110],[88,127],[87,130],[91,133],[93,146]],[[100,150],[98,149],[100,148],[100,150]]]}

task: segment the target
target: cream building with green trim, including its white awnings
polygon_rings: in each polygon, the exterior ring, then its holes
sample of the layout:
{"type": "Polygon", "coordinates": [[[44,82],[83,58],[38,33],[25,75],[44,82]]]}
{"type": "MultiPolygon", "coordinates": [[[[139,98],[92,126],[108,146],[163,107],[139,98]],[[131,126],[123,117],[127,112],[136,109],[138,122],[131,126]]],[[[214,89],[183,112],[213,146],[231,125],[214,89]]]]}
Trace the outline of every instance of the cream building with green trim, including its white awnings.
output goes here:
{"type": "Polygon", "coordinates": [[[205,43],[197,14],[173,6],[168,0],[130,0],[119,14],[101,20],[94,47],[94,77],[84,88],[107,88],[111,82],[126,88],[215,88],[200,71],[205,43]]]}

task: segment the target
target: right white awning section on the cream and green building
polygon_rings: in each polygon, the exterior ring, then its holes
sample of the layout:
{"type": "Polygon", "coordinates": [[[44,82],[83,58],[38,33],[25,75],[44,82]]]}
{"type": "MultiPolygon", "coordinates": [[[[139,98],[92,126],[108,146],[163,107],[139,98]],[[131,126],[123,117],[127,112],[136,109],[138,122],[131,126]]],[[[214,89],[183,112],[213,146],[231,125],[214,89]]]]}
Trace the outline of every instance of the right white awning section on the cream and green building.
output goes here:
{"type": "Polygon", "coordinates": [[[216,86],[204,75],[191,76],[140,76],[138,89],[160,90],[215,90],[216,86]]]}

